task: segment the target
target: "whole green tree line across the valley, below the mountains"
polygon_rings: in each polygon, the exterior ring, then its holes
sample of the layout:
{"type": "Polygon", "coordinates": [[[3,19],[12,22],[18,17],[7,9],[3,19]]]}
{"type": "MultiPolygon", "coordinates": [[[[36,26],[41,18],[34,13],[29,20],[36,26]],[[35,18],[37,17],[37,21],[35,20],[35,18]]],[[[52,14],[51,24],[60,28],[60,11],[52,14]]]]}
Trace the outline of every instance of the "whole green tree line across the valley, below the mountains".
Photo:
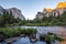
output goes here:
{"type": "Polygon", "coordinates": [[[20,20],[14,18],[12,12],[4,11],[3,14],[0,14],[0,26],[13,26],[13,25],[30,25],[30,26],[53,26],[53,25],[66,25],[66,12],[62,15],[50,18],[43,16],[34,20],[20,20]]]}

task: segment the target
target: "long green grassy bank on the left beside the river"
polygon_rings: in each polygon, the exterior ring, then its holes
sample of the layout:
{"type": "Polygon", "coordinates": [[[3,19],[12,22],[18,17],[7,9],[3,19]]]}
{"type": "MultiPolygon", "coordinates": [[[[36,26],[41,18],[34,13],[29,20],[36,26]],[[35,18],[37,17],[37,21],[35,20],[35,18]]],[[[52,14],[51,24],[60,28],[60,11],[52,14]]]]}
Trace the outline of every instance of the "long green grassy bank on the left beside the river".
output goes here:
{"type": "Polygon", "coordinates": [[[35,29],[0,29],[4,37],[20,36],[21,34],[30,35],[32,33],[36,34],[35,29]]]}

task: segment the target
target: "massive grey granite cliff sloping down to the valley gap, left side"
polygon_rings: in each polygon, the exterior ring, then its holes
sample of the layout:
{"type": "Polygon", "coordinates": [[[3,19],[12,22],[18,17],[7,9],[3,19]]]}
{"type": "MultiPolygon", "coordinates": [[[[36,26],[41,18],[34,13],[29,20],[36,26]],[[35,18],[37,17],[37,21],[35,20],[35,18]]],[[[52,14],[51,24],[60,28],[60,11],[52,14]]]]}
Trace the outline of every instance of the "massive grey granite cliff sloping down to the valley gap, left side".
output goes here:
{"type": "Polygon", "coordinates": [[[14,18],[19,18],[21,20],[25,20],[25,18],[23,16],[23,14],[21,13],[21,10],[16,9],[16,8],[10,8],[7,9],[7,11],[10,13],[10,11],[12,12],[12,15],[14,18]]]}

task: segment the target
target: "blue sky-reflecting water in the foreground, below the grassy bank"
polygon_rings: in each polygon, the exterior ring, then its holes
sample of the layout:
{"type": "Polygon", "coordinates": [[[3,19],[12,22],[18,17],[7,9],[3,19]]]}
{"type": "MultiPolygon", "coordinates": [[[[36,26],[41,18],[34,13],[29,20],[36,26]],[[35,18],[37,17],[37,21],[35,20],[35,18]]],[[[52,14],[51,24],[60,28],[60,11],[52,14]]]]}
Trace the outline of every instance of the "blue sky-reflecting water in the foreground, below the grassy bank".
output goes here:
{"type": "Polygon", "coordinates": [[[26,37],[21,37],[20,41],[14,42],[14,43],[12,43],[12,44],[45,44],[45,42],[40,42],[40,41],[37,41],[37,42],[33,43],[33,42],[31,42],[31,41],[29,40],[29,37],[26,36],[26,37]]]}

